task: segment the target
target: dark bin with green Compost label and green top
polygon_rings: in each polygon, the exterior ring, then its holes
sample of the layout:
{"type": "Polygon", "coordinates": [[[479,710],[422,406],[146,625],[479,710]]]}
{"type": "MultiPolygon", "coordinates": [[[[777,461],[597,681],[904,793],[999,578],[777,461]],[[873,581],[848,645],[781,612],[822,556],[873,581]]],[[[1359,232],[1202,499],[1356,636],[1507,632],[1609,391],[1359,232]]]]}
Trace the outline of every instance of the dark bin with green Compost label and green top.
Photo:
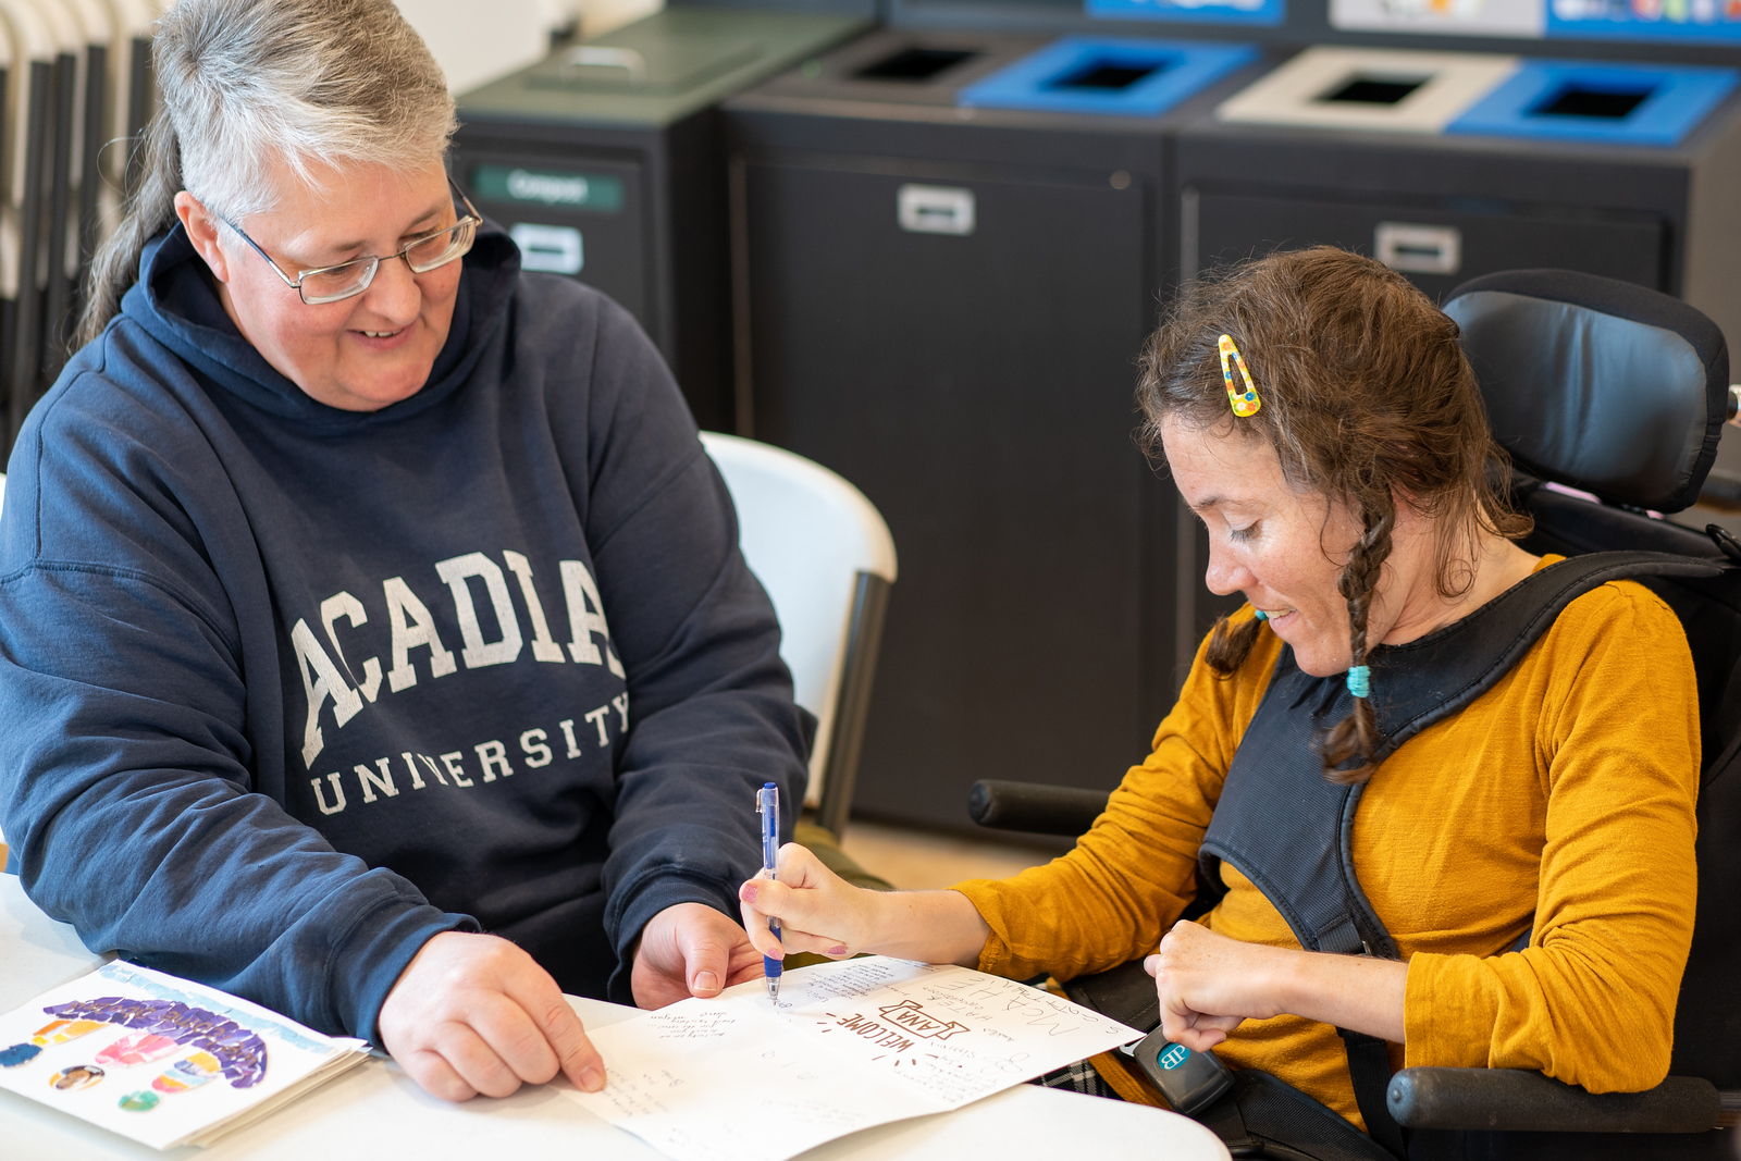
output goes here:
{"type": "Polygon", "coordinates": [[[696,421],[731,425],[724,158],[716,104],[867,26],[672,7],[460,97],[453,171],[528,270],[620,301],[696,421]]]}

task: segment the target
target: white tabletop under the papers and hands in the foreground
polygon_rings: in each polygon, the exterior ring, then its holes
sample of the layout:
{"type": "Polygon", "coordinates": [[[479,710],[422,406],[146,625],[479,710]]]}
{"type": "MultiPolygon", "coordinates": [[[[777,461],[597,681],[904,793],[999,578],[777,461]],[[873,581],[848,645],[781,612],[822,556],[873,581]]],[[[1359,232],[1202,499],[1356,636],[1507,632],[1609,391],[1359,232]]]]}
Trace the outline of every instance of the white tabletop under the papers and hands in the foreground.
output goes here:
{"type": "MultiPolygon", "coordinates": [[[[17,876],[0,874],[0,1011],[85,975],[103,959],[85,950],[70,926],[54,923],[24,898],[17,876]]],[[[569,996],[569,1004],[587,1027],[634,1015],[634,1008],[578,996],[569,996]]],[[[5,1161],[155,1161],[167,1156],[9,1091],[0,1091],[0,1145],[5,1161]]],[[[662,1158],[548,1086],[454,1105],[423,1093],[390,1060],[369,1060],[211,1149],[171,1152],[204,1161],[662,1158]]],[[[1097,1156],[1227,1161],[1215,1135],[1186,1117],[1032,1084],[1017,1084],[956,1112],[864,1130],[811,1149],[803,1161],[975,1156],[998,1161],[1097,1156]]]]}

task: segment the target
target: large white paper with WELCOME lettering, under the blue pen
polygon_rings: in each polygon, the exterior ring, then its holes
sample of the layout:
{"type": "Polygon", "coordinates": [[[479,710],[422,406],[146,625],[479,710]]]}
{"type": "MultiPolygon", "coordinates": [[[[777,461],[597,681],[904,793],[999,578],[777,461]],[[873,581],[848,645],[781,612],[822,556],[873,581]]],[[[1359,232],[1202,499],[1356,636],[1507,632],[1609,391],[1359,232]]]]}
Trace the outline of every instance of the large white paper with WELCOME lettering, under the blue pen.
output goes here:
{"type": "Polygon", "coordinates": [[[872,1124],[947,1112],[1140,1032],[968,968],[848,959],[594,1034],[609,1083],[564,1090],[679,1161],[785,1161],[872,1124]]]}

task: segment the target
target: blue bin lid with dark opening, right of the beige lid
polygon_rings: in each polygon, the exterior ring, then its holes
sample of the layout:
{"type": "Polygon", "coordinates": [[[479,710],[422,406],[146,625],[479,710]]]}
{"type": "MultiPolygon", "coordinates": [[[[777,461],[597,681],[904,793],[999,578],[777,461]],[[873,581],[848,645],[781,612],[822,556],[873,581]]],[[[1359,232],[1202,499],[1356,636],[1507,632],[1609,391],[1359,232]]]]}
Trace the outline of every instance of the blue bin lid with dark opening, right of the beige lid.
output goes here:
{"type": "Polygon", "coordinates": [[[1445,132],[1673,146],[1738,80],[1732,68],[1697,64],[1525,61],[1445,132]]]}

